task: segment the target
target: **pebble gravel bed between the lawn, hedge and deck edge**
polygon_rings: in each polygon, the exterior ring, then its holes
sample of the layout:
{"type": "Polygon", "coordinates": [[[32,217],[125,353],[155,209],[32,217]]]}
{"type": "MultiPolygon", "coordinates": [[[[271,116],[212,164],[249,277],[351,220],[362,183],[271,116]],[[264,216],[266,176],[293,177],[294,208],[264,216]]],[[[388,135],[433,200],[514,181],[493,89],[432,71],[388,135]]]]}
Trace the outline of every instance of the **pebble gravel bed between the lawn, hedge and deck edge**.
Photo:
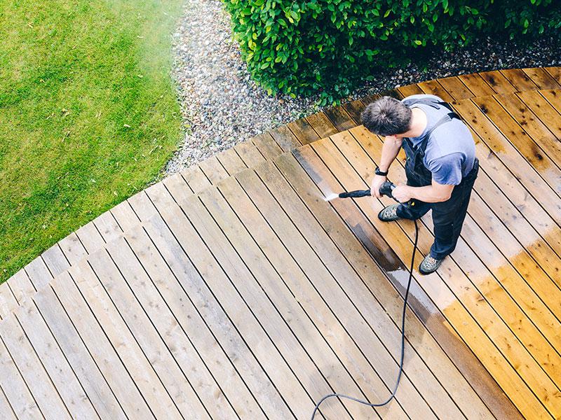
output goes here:
{"type": "MultiPolygon", "coordinates": [[[[173,78],[186,134],[165,168],[173,174],[266,130],[320,111],[317,98],[269,97],[250,80],[238,45],[231,38],[228,13],[219,0],[187,0],[173,34],[173,78]]],[[[379,74],[350,99],[423,80],[475,71],[561,64],[560,41],[542,38],[534,45],[484,39],[426,63],[379,74]]]]}

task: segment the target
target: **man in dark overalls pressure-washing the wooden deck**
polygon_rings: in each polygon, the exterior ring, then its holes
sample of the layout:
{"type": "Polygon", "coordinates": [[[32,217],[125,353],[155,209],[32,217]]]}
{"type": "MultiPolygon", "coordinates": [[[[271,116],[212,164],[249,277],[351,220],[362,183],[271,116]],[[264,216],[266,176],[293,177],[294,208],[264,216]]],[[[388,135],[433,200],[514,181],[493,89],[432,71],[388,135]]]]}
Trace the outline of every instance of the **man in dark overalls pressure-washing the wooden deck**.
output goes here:
{"type": "Polygon", "coordinates": [[[384,146],[372,180],[372,194],[379,188],[401,147],[407,162],[407,185],[393,190],[400,203],[381,210],[381,221],[415,220],[433,211],[434,242],[419,266],[421,274],[435,272],[446,255],[454,251],[479,164],[468,127],[439,97],[414,94],[399,101],[382,97],[362,113],[363,125],[380,136],[384,146]]]}

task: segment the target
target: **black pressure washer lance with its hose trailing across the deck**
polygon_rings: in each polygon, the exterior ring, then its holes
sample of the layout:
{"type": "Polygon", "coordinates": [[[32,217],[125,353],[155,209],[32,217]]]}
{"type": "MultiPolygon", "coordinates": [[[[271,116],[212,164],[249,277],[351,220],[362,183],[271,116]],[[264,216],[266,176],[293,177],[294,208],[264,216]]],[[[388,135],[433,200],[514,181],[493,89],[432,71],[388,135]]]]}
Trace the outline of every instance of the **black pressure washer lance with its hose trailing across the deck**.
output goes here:
{"type": "MultiPolygon", "coordinates": [[[[396,186],[393,183],[386,181],[380,187],[380,194],[387,195],[388,197],[393,198],[393,200],[398,201],[396,197],[393,197],[392,195],[392,191],[394,190],[394,188],[396,188],[396,186]]],[[[339,198],[358,198],[358,197],[367,197],[369,195],[372,195],[370,190],[356,190],[356,191],[349,191],[348,193],[340,193],[339,198]]],[[[406,205],[411,206],[413,204],[414,202],[410,200],[410,202],[408,202],[406,205]]],[[[415,260],[415,252],[417,251],[417,240],[419,239],[419,227],[417,226],[417,221],[414,221],[414,223],[415,223],[415,241],[413,244],[413,253],[411,255],[411,266],[409,269],[409,279],[407,280],[407,289],[405,290],[405,296],[403,297],[403,313],[401,315],[401,357],[399,362],[398,379],[396,380],[396,386],[393,387],[393,391],[391,392],[391,395],[388,397],[387,400],[378,403],[360,400],[359,398],[351,397],[349,395],[344,395],[340,393],[331,393],[329,395],[325,395],[321,400],[318,401],[316,407],[313,408],[313,413],[311,414],[311,420],[313,420],[313,417],[316,416],[316,412],[318,411],[320,404],[323,401],[327,400],[327,398],[332,398],[332,397],[346,398],[348,400],[360,402],[360,404],[368,405],[370,407],[383,407],[384,405],[388,404],[391,400],[393,400],[393,398],[396,397],[396,392],[398,391],[401,374],[403,373],[403,359],[405,356],[405,313],[407,311],[407,297],[409,297],[409,289],[411,286],[411,280],[413,276],[413,264],[415,260]]]]}

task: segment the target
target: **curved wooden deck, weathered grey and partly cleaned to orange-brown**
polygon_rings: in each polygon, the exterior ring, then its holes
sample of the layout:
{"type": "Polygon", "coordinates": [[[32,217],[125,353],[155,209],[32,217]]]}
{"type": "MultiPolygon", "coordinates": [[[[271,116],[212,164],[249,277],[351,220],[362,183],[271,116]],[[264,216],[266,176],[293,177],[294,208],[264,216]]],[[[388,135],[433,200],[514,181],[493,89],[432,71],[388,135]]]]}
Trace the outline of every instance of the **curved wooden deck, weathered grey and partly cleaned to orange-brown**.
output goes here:
{"type": "MultiPolygon", "coordinates": [[[[400,87],[438,94],[480,159],[457,250],[414,273],[395,401],[324,419],[561,418],[561,69],[400,87]]],[[[369,185],[374,97],[157,183],[0,285],[2,419],[308,419],[384,400],[414,228],[369,185]]],[[[404,180],[403,155],[390,179],[404,180]]],[[[417,265],[433,241],[419,224],[417,265]]]]}

